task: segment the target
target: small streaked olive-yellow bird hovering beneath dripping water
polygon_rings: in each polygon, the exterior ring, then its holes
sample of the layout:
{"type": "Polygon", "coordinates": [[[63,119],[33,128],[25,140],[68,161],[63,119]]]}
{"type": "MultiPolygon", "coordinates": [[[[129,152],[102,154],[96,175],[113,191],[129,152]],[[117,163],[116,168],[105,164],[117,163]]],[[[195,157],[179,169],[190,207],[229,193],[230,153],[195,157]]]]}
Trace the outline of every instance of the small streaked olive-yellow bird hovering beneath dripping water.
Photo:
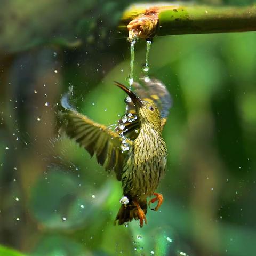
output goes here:
{"type": "MultiPolygon", "coordinates": [[[[145,82],[145,81],[144,81],[145,82]]],[[[61,99],[66,109],[60,114],[61,130],[84,147],[106,170],[114,170],[122,182],[123,198],[115,223],[122,225],[132,219],[140,227],[147,223],[147,205],[157,202],[151,210],[157,211],[163,202],[156,193],[165,174],[167,150],[162,137],[171,97],[165,85],[156,80],[145,82],[145,87],[133,83],[135,94],[115,82],[127,95],[126,115],[118,121],[115,130],[98,124],[75,110],[69,104],[69,93],[61,99]],[[147,198],[155,196],[147,204],[147,198]]]]}

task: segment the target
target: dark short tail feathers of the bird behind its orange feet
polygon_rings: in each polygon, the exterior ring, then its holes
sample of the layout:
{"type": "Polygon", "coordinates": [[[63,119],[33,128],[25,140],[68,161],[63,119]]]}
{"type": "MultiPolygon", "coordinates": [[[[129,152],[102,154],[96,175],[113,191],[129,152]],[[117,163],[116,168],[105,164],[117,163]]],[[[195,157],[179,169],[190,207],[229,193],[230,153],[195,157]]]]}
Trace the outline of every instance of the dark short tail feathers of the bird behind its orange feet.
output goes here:
{"type": "MultiPolygon", "coordinates": [[[[147,201],[140,202],[139,205],[146,215],[147,208],[148,208],[147,201]]],[[[139,219],[137,206],[135,204],[121,205],[116,215],[116,219],[114,223],[115,225],[116,225],[116,222],[118,223],[118,225],[122,225],[125,222],[132,221],[133,219],[135,220],[139,219]]]]}

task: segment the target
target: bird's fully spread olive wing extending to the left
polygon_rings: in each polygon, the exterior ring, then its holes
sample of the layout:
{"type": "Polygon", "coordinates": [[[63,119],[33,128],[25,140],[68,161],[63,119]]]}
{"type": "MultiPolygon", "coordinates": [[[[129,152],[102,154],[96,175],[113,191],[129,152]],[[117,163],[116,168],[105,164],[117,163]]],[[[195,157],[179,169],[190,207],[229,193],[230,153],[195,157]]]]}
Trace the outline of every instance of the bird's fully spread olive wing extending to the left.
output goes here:
{"type": "MultiPolygon", "coordinates": [[[[117,179],[121,180],[125,150],[120,135],[78,113],[69,104],[69,93],[62,97],[61,105],[66,111],[59,115],[62,123],[60,130],[84,147],[91,156],[95,154],[98,163],[106,170],[114,170],[117,179]]],[[[132,142],[126,140],[125,143],[131,145],[132,142]]]]}

